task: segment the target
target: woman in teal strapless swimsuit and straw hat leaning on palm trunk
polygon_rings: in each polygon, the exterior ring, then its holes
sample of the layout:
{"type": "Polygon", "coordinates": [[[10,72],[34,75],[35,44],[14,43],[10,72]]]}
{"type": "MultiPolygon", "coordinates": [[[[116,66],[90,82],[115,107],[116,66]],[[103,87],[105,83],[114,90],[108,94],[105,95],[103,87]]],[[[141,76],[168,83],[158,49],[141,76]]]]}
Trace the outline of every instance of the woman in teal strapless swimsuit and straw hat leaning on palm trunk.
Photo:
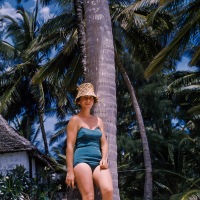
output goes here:
{"type": "Polygon", "coordinates": [[[94,185],[100,189],[102,200],[112,200],[113,185],[103,122],[90,113],[97,101],[91,83],[79,86],[75,102],[80,112],[67,126],[66,184],[74,188],[76,181],[83,200],[94,200],[94,185]]]}

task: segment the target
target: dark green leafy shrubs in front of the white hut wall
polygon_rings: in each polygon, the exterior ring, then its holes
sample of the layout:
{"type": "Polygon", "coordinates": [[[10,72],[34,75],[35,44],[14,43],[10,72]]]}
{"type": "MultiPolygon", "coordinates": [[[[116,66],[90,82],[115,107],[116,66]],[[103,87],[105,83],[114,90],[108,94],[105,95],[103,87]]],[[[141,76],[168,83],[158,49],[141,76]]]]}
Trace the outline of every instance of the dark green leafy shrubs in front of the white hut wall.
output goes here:
{"type": "Polygon", "coordinates": [[[62,180],[53,179],[53,172],[46,167],[37,177],[30,178],[23,166],[17,166],[0,176],[0,199],[50,200],[61,190],[62,184],[62,180]]]}

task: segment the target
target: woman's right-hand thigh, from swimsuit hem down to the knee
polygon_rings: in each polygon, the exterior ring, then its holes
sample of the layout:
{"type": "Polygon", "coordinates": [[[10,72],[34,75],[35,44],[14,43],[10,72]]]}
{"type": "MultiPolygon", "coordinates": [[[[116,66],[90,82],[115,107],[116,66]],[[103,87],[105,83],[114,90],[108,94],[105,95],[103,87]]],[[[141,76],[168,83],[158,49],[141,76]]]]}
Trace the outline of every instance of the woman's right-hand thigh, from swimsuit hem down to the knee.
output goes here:
{"type": "Polygon", "coordinates": [[[100,169],[100,166],[96,167],[93,172],[93,180],[101,191],[113,190],[112,177],[109,169],[100,169]]]}

